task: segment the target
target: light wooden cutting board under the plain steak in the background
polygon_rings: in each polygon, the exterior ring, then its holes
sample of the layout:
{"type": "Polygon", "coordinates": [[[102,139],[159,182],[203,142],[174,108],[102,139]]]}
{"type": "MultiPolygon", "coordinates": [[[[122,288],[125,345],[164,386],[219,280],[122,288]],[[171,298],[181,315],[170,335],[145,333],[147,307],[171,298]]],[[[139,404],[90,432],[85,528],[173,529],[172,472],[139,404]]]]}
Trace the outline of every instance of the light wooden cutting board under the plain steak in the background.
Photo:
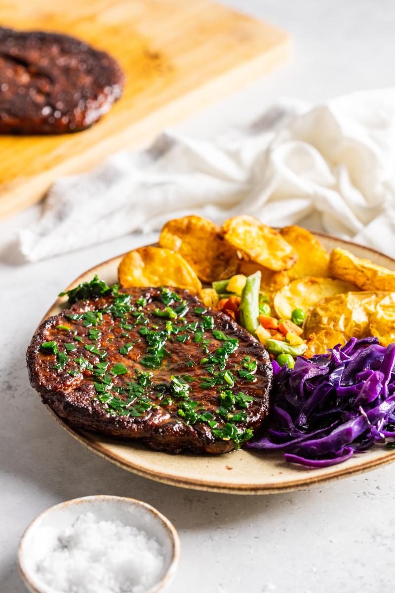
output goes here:
{"type": "Polygon", "coordinates": [[[207,0],[2,0],[0,24],[59,31],[111,53],[124,94],[91,129],[0,136],[0,218],[43,197],[59,176],[141,145],[284,61],[284,31],[207,0]]]}

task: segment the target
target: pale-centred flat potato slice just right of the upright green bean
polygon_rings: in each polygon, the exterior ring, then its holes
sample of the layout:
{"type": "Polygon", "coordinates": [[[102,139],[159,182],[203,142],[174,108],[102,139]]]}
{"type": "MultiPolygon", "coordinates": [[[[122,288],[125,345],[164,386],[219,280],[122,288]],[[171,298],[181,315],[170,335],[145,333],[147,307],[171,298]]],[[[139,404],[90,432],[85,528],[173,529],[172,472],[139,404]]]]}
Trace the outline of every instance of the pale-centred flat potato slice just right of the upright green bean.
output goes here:
{"type": "Polygon", "coordinates": [[[294,309],[303,309],[307,313],[321,299],[352,290],[355,286],[344,280],[306,276],[293,280],[276,292],[273,301],[275,312],[282,319],[290,319],[294,309]]]}

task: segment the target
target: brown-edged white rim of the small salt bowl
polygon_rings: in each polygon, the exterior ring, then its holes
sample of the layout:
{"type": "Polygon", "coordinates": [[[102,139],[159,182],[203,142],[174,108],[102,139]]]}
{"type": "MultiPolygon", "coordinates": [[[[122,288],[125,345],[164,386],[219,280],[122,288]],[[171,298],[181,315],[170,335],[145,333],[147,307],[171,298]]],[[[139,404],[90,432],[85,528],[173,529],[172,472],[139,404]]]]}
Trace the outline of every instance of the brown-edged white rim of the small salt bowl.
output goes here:
{"type": "MultiPolygon", "coordinates": [[[[59,503],[57,503],[57,505],[50,506],[49,508],[45,509],[40,514],[38,514],[37,517],[35,517],[33,519],[33,521],[31,521],[28,524],[28,526],[25,528],[24,533],[21,537],[19,546],[18,546],[18,569],[19,569],[20,575],[24,581],[25,586],[27,586],[27,588],[30,589],[30,591],[32,591],[33,593],[42,593],[42,591],[40,591],[40,589],[37,588],[37,584],[35,582],[34,577],[31,576],[29,571],[25,569],[25,562],[24,562],[24,557],[23,557],[24,556],[24,543],[25,543],[25,538],[26,538],[28,532],[31,531],[32,529],[36,528],[38,521],[40,521],[45,515],[50,514],[53,511],[56,512],[56,509],[64,508],[65,506],[68,506],[68,505],[76,505],[81,502],[94,502],[96,500],[97,501],[101,500],[101,502],[106,502],[106,501],[110,502],[110,500],[113,500],[113,501],[118,501],[121,504],[140,506],[140,507],[144,508],[146,511],[149,511],[150,513],[155,515],[155,517],[157,517],[162,522],[163,526],[165,527],[165,529],[168,533],[168,536],[169,536],[169,541],[171,542],[171,562],[169,564],[169,568],[166,570],[165,574],[162,576],[160,581],[158,581],[158,583],[153,585],[150,589],[147,589],[147,591],[145,591],[144,593],[156,593],[156,592],[160,591],[174,577],[176,569],[178,568],[179,556],[181,553],[181,542],[179,540],[177,530],[174,527],[174,525],[172,524],[172,522],[169,521],[169,519],[167,517],[165,517],[165,515],[163,515],[160,511],[158,511],[158,509],[156,509],[152,505],[149,505],[149,503],[144,502],[143,500],[138,500],[136,498],[130,498],[128,496],[97,494],[97,495],[90,495],[90,496],[81,496],[80,498],[72,498],[70,500],[65,500],[63,502],[59,502],[59,503]]],[[[59,593],[59,590],[53,589],[53,593],[59,593]]]]}

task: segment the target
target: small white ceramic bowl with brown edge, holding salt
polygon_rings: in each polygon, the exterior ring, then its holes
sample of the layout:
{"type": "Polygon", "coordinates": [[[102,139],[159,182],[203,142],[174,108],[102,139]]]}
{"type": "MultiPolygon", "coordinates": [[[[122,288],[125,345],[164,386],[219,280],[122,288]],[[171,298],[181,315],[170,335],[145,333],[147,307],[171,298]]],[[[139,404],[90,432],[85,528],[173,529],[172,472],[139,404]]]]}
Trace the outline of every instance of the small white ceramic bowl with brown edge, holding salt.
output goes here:
{"type": "Polygon", "coordinates": [[[40,530],[46,527],[63,529],[72,525],[81,514],[92,512],[102,521],[118,519],[155,537],[163,550],[164,563],[159,581],[144,593],[162,591],[174,577],[180,554],[180,543],[174,525],[153,506],[141,500],[121,496],[85,496],[67,500],[42,512],[25,530],[18,552],[18,565],[24,584],[32,593],[59,593],[44,584],[34,567],[40,559],[40,530]]]}

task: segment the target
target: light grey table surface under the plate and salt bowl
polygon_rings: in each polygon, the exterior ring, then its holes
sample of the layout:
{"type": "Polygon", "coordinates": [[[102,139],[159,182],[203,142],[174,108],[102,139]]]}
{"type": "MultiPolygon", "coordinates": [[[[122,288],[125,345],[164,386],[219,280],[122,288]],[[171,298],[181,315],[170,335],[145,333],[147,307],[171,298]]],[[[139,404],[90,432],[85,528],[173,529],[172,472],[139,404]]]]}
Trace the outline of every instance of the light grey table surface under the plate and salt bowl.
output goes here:
{"type": "MultiPolygon", "coordinates": [[[[281,96],[312,101],[393,83],[390,0],[228,0],[287,28],[293,62],[179,126],[213,135],[281,96]]],[[[0,157],[1,158],[1,157],[0,157]]],[[[23,168],[23,162],[21,162],[23,168]]],[[[32,208],[0,225],[0,593],[23,593],[18,540],[40,511],[105,493],[145,500],[179,531],[182,557],[169,593],[390,591],[395,465],[304,492],[231,496],[134,476],[81,447],[28,384],[25,349],[55,295],[88,267],[149,243],[133,235],[37,264],[22,263],[15,231],[32,208]]]]}

